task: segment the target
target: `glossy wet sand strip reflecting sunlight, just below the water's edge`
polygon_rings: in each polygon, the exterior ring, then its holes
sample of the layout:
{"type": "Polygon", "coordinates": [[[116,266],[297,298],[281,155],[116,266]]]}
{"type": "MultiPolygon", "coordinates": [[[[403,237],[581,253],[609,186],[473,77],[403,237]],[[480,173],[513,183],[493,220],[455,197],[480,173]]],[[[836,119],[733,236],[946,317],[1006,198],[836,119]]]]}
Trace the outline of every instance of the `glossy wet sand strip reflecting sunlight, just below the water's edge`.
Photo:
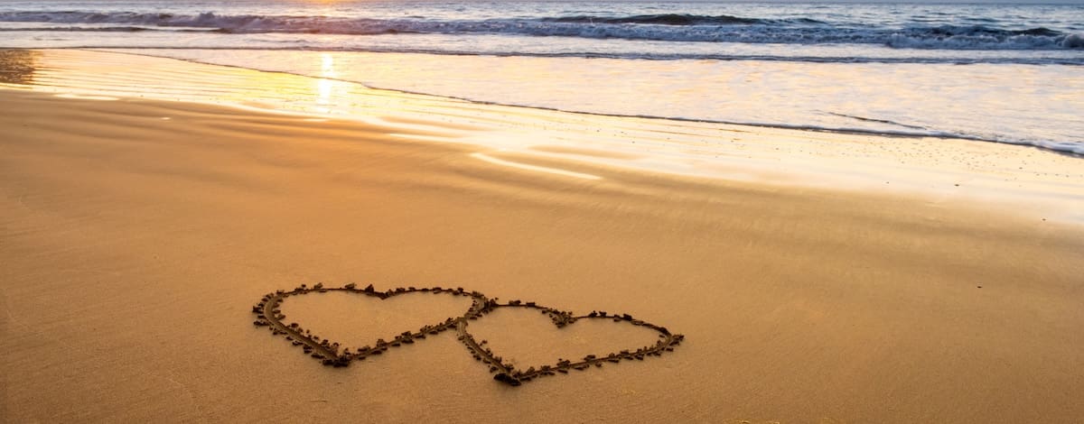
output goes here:
{"type": "MultiPolygon", "coordinates": [[[[1025,146],[565,112],[142,54],[28,52],[55,56],[38,58],[49,68],[39,72],[48,87],[31,84],[31,90],[181,100],[402,127],[426,132],[409,140],[474,145],[482,149],[479,155],[527,159],[527,165],[586,162],[780,188],[886,191],[934,202],[990,204],[1084,225],[1080,158],[1025,146]],[[118,70],[124,61],[168,72],[177,81],[154,89],[162,84],[154,71],[118,70]],[[120,74],[105,81],[79,77],[80,72],[105,71],[120,74]],[[214,78],[198,77],[201,72],[214,78]],[[242,89],[227,85],[231,80],[242,89]],[[254,87],[262,83],[270,87],[254,87]]],[[[334,62],[334,57],[324,61],[334,62]]]]}

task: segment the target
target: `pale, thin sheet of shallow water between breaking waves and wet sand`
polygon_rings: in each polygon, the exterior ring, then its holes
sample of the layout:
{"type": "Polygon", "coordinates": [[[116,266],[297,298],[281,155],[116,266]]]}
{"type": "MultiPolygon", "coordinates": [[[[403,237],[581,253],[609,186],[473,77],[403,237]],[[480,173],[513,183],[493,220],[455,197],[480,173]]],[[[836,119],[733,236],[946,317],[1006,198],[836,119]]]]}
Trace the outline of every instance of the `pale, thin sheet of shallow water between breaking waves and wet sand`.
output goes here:
{"type": "Polygon", "coordinates": [[[411,53],[129,50],[591,114],[909,136],[1084,154],[1073,65],[633,61],[411,53]]]}

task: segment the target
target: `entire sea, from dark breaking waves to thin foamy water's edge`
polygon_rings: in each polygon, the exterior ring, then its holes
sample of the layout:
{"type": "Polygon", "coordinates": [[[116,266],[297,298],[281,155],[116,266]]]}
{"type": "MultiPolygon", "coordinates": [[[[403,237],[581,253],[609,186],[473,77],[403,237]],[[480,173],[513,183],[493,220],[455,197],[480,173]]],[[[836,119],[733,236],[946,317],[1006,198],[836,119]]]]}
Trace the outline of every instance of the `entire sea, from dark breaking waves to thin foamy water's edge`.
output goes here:
{"type": "Polygon", "coordinates": [[[1084,155],[1084,4],[3,1],[0,48],[1084,155]]]}

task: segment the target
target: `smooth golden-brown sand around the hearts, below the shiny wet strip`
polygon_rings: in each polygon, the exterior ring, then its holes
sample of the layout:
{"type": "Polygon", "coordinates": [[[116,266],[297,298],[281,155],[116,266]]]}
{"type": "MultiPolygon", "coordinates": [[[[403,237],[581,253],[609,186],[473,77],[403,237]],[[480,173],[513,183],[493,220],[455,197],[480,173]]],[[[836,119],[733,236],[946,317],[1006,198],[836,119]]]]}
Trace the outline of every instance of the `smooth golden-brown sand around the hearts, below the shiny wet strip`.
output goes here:
{"type": "MultiPolygon", "coordinates": [[[[0,128],[5,422],[1084,416],[1076,225],[190,102],[0,90],[0,128]],[[323,367],[253,326],[260,296],[315,282],[463,287],[629,313],[686,339],[519,387],[494,382],[454,331],[323,367]]],[[[427,295],[313,293],[283,310],[360,346],[469,304],[427,295]]],[[[502,309],[472,326],[525,366],[655,337],[549,322],[502,309]]]]}

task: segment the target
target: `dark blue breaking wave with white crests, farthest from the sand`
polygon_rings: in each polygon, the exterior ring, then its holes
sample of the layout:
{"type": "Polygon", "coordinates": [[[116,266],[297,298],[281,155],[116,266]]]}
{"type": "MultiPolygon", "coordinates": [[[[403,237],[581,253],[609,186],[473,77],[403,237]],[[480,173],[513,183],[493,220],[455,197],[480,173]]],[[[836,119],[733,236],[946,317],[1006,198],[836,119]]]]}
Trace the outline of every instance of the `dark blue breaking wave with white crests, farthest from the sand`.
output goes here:
{"type": "MultiPolygon", "coordinates": [[[[655,14],[633,16],[553,16],[439,21],[375,19],[285,15],[194,15],[134,12],[2,12],[0,22],[52,24],[116,24],[119,28],[208,28],[222,34],[446,34],[562,36],[591,39],[696,41],[737,43],[859,43],[896,49],[931,50],[1068,50],[1084,49],[1084,34],[1044,27],[1003,29],[988,25],[877,28],[829,25],[808,18],[760,19],[731,15],[655,14]]],[[[73,30],[57,26],[54,29],[73,30]],[[63,29],[55,29],[63,28],[63,29]]],[[[28,29],[31,30],[31,29],[28,29]]],[[[103,29],[99,29],[103,30],[103,29]]],[[[121,29],[122,30],[122,29],[121,29]]]]}

